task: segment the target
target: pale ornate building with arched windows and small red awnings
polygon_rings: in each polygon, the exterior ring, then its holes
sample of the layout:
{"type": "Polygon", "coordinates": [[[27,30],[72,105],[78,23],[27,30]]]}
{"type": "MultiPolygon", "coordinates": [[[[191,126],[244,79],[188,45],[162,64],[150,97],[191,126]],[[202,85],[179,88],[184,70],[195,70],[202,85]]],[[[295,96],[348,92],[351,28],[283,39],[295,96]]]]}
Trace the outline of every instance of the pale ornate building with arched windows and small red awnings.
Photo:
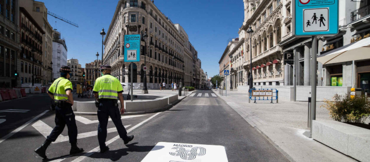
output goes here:
{"type": "Polygon", "coordinates": [[[232,55],[234,86],[247,85],[250,68],[254,85],[282,85],[282,13],[286,1],[243,0],[244,22],[239,28],[239,42],[232,55]],[[247,33],[251,27],[253,33],[247,33]],[[250,51],[252,50],[252,51],[250,51]],[[252,67],[250,67],[250,52],[252,67]],[[235,66],[236,65],[236,66],[235,66]]]}

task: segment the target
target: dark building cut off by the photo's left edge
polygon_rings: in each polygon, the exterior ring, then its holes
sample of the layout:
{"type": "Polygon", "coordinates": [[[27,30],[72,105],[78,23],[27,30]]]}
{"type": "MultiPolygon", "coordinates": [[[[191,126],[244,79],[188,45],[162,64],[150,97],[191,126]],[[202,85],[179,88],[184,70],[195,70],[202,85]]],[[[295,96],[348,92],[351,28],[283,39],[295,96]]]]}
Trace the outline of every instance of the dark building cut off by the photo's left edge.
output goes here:
{"type": "Polygon", "coordinates": [[[19,1],[0,0],[0,87],[20,86],[19,1]]]}

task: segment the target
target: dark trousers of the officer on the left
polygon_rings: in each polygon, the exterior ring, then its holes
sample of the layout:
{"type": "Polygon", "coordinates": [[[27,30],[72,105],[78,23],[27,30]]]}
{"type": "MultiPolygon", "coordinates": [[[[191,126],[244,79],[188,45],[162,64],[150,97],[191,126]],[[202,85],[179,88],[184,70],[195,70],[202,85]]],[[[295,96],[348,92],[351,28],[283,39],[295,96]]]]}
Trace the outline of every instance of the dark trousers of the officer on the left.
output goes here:
{"type": "Polygon", "coordinates": [[[77,126],[75,115],[72,110],[72,104],[64,102],[63,107],[55,107],[55,127],[51,131],[50,135],[47,136],[48,141],[54,142],[58,136],[63,132],[63,129],[67,125],[68,137],[71,144],[77,142],[77,126]]]}

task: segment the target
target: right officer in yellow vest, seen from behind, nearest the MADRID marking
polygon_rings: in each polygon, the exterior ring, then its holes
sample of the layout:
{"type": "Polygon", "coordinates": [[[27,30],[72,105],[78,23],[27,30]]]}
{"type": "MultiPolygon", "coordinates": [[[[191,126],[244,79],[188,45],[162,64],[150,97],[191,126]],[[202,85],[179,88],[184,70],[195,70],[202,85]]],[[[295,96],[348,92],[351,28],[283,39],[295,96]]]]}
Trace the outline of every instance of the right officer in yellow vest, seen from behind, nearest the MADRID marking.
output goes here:
{"type": "Polygon", "coordinates": [[[108,117],[111,117],[114,125],[117,128],[118,134],[123,139],[124,144],[134,139],[134,136],[127,136],[127,131],[122,125],[120,110],[118,109],[117,98],[121,102],[121,111],[124,111],[123,96],[122,96],[122,85],[121,82],[113,77],[111,72],[111,66],[103,65],[100,69],[101,77],[95,81],[94,89],[95,99],[99,102],[98,106],[98,141],[100,146],[100,153],[108,151],[108,146],[105,145],[107,138],[107,124],[108,117]]]}

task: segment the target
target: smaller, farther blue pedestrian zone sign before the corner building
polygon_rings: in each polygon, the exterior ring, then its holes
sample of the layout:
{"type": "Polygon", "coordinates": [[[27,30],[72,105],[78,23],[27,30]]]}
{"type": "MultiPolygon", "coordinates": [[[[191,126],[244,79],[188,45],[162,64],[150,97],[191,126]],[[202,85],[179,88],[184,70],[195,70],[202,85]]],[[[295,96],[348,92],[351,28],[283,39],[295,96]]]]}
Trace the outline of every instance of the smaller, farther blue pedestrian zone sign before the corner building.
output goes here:
{"type": "Polygon", "coordinates": [[[140,61],[140,34],[125,35],[124,61],[140,61]]]}

